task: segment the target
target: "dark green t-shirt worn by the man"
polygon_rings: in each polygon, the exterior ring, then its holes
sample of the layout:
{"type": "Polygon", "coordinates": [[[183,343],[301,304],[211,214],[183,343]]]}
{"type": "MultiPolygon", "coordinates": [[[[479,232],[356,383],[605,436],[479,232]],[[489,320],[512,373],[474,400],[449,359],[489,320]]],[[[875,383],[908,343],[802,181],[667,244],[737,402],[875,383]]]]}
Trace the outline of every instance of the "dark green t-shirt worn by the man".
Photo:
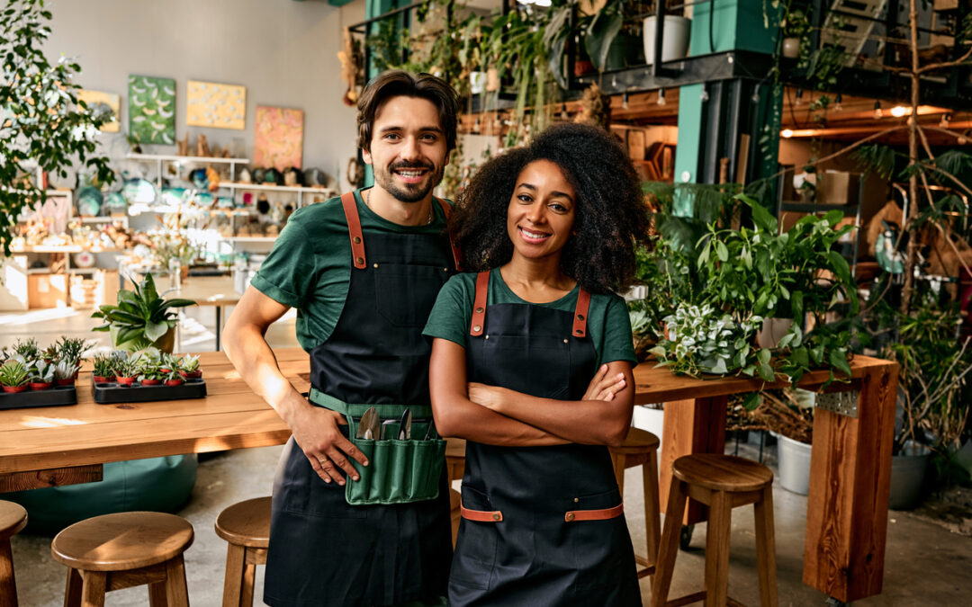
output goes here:
{"type": "MultiPolygon", "coordinates": [[[[445,214],[433,205],[435,217],[428,225],[399,225],[383,219],[355,190],[358,215],[364,232],[441,234],[445,214]]],[[[351,284],[351,238],[340,197],[297,209],[280,232],[273,250],[260,265],[251,285],[285,306],[296,308],[297,341],[307,352],[328,340],[344,309],[351,284]]]]}

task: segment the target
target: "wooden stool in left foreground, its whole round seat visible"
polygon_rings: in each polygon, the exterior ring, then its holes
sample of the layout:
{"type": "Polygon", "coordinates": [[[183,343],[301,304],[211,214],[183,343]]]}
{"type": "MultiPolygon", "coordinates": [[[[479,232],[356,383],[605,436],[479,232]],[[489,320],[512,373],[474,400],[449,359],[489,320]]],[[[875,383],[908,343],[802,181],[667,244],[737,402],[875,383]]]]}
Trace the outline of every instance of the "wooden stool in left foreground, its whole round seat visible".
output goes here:
{"type": "Polygon", "coordinates": [[[51,544],[55,560],[68,566],[65,607],[105,604],[105,593],[149,585],[153,607],[188,607],[183,553],[192,545],[192,525],[161,512],[120,512],[74,523],[51,544]]]}

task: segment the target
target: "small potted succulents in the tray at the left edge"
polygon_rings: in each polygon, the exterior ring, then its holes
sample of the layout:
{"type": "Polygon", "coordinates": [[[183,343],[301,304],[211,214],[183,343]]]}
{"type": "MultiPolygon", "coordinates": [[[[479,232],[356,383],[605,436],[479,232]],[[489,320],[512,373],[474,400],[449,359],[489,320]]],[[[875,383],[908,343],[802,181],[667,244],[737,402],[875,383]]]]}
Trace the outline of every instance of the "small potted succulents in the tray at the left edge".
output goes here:
{"type": "Polygon", "coordinates": [[[12,350],[0,350],[0,386],[15,393],[73,386],[90,349],[87,340],[70,337],[61,337],[44,350],[32,337],[17,341],[12,350]]]}

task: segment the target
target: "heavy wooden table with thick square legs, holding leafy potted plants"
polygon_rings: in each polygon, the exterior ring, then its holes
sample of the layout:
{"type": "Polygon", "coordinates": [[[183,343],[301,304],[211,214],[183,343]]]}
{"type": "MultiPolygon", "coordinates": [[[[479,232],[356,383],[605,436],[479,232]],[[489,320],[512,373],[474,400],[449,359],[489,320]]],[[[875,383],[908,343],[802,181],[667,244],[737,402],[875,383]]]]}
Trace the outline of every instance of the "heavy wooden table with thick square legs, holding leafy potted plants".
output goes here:
{"type": "MultiPolygon", "coordinates": [[[[696,380],[652,367],[645,363],[635,370],[635,402],[665,403],[658,464],[664,508],[677,457],[723,453],[728,396],[783,384],[740,378],[696,380]]],[[[826,391],[850,391],[845,395],[852,400],[843,404],[856,405],[856,417],[819,407],[814,414],[803,565],[804,584],[844,602],[881,592],[898,383],[894,362],[857,356],[851,370],[850,384],[835,383],[826,391]]],[[[817,389],[827,377],[826,372],[811,373],[800,386],[817,389]]],[[[690,502],[684,523],[705,518],[705,507],[690,502]]]]}

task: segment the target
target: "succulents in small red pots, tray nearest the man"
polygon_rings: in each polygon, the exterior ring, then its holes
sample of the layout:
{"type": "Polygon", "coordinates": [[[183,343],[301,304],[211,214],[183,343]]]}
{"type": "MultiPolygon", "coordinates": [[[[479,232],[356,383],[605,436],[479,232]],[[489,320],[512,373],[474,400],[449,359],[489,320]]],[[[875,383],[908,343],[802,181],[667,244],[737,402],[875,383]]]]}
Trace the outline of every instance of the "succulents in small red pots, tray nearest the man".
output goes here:
{"type": "Polygon", "coordinates": [[[139,353],[116,351],[91,359],[95,383],[120,386],[179,386],[188,379],[202,377],[199,357],[178,356],[149,349],[139,353]]]}

